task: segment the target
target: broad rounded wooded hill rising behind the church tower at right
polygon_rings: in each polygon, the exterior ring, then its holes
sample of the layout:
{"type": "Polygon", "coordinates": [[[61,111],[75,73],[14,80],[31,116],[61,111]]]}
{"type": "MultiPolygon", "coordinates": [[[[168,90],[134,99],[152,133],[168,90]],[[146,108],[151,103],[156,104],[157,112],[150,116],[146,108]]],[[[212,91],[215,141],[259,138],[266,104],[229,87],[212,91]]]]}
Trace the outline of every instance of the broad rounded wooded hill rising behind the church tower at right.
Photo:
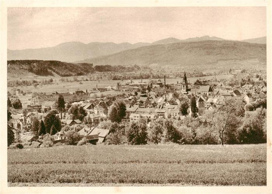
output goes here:
{"type": "Polygon", "coordinates": [[[205,65],[228,60],[266,60],[266,45],[240,41],[198,41],[160,44],[83,60],[94,65],[205,65]]]}

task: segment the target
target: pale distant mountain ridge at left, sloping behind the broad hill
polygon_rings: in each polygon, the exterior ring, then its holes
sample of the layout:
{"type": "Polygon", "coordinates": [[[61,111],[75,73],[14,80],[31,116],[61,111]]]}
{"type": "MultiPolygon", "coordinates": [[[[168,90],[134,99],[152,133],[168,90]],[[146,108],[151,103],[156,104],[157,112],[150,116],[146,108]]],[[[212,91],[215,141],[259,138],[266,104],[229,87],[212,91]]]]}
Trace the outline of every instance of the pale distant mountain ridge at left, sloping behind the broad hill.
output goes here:
{"type": "MultiPolygon", "coordinates": [[[[148,43],[147,43],[148,44],[148,43]]],[[[65,42],[54,47],[8,50],[8,60],[57,60],[65,62],[79,61],[137,48],[146,43],[131,44],[128,42],[116,44],[113,42],[65,42]]]]}

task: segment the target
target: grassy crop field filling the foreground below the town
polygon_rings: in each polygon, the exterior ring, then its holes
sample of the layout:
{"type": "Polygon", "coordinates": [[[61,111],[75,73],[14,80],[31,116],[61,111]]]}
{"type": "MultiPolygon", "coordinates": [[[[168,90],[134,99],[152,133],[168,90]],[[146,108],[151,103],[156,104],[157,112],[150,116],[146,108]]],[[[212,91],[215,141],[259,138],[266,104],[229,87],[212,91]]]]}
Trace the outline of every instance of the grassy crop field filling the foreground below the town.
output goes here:
{"type": "Polygon", "coordinates": [[[266,185],[266,144],[8,150],[9,186],[266,185]]]}

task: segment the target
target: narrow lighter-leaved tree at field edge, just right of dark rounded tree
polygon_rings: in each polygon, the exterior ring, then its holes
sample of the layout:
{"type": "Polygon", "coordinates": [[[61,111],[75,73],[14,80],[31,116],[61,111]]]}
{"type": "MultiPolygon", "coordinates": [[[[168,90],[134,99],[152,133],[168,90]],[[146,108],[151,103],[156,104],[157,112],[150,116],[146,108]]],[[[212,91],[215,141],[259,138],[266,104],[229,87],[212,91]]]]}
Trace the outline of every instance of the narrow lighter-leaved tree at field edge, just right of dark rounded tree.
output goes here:
{"type": "Polygon", "coordinates": [[[149,142],[158,144],[161,142],[163,134],[163,123],[162,122],[153,122],[151,123],[150,129],[147,130],[147,138],[149,142]]]}

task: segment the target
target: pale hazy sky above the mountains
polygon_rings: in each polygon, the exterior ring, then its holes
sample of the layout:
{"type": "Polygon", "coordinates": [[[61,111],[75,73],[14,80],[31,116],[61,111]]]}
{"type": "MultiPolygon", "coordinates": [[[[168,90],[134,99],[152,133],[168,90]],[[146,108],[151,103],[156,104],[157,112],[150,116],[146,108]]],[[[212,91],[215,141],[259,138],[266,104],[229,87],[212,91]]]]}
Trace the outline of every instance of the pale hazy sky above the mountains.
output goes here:
{"type": "Polygon", "coordinates": [[[8,48],[266,36],[265,7],[8,8],[8,48]]]}

